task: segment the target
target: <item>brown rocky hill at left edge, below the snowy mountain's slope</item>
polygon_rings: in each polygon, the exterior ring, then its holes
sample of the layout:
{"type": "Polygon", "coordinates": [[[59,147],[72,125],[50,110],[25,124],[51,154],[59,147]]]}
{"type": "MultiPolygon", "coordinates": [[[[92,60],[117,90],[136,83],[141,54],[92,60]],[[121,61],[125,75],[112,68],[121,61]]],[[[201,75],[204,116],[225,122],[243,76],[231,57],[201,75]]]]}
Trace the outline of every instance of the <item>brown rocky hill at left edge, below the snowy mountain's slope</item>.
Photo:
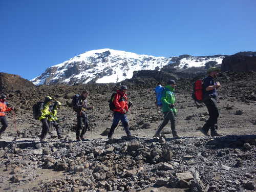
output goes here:
{"type": "Polygon", "coordinates": [[[34,84],[19,75],[0,73],[0,93],[6,90],[20,90],[27,87],[34,87],[34,84]]]}

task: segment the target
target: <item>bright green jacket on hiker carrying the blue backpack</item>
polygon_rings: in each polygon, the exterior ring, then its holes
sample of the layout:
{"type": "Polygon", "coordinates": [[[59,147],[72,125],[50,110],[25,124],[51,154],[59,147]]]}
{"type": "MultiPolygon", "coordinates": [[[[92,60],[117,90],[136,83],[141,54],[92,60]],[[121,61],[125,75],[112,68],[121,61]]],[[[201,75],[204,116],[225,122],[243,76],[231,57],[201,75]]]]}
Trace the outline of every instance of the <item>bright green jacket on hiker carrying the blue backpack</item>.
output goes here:
{"type": "Polygon", "coordinates": [[[163,91],[163,95],[161,98],[162,101],[162,112],[167,112],[167,111],[173,111],[174,114],[177,113],[177,110],[175,108],[170,108],[170,104],[174,104],[175,103],[175,96],[174,96],[174,91],[175,89],[170,87],[170,86],[165,86],[164,87],[164,91],[163,91]]]}

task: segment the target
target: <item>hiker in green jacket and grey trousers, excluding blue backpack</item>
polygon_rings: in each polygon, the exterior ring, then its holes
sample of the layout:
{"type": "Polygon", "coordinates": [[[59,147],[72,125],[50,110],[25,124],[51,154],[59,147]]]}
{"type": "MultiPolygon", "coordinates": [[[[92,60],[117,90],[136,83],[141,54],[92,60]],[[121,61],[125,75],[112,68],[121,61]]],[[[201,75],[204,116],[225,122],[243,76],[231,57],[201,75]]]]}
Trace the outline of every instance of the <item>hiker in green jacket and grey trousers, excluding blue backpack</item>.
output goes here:
{"type": "Polygon", "coordinates": [[[161,97],[162,101],[162,112],[164,114],[163,122],[159,125],[158,130],[154,137],[159,137],[160,132],[162,131],[163,127],[169,122],[170,120],[170,128],[172,129],[173,137],[178,138],[175,124],[175,115],[177,113],[177,110],[175,109],[174,103],[175,103],[175,91],[176,82],[175,80],[169,80],[167,82],[167,86],[164,87],[163,95],[161,97]]]}

